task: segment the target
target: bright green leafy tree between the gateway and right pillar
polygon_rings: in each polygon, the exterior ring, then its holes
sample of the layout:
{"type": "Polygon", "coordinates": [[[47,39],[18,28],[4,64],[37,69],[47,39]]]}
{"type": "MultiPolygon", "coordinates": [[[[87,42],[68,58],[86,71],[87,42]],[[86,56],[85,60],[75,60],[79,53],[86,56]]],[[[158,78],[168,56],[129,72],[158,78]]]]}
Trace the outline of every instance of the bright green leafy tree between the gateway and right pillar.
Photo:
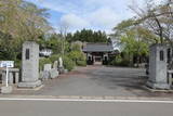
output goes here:
{"type": "Polygon", "coordinates": [[[129,30],[121,37],[121,43],[123,44],[123,53],[129,60],[130,66],[133,66],[133,57],[148,56],[149,44],[141,39],[138,33],[135,30],[129,30]]]}

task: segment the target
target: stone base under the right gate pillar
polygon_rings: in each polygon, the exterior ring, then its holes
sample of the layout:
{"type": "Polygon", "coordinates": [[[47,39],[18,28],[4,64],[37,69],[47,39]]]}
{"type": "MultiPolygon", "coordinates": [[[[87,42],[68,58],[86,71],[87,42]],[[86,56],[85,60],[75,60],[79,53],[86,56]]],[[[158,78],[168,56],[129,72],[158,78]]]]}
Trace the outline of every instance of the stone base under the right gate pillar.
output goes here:
{"type": "Polygon", "coordinates": [[[147,81],[147,86],[152,89],[162,89],[162,90],[171,89],[170,85],[168,85],[168,83],[156,83],[156,82],[147,81]]]}

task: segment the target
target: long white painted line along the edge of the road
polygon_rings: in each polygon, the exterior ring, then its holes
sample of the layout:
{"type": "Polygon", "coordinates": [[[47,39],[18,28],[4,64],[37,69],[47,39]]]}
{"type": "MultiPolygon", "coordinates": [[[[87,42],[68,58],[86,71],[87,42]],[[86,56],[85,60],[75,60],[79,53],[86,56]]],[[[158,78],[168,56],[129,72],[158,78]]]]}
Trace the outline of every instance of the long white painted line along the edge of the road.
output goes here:
{"type": "Polygon", "coordinates": [[[149,101],[149,100],[92,100],[92,99],[17,99],[0,98],[0,101],[43,101],[43,102],[108,102],[108,103],[167,103],[173,104],[173,101],[149,101]]]}

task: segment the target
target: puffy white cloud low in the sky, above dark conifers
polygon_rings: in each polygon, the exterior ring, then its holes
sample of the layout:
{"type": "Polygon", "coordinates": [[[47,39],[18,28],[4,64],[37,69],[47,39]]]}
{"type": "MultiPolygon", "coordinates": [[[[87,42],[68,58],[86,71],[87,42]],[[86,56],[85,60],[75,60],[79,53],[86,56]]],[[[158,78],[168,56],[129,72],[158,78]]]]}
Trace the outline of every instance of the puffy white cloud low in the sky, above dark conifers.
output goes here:
{"type": "Polygon", "coordinates": [[[89,27],[90,23],[84,18],[77,16],[76,14],[66,14],[61,17],[61,23],[64,23],[71,28],[84,28],[89,27]]]}

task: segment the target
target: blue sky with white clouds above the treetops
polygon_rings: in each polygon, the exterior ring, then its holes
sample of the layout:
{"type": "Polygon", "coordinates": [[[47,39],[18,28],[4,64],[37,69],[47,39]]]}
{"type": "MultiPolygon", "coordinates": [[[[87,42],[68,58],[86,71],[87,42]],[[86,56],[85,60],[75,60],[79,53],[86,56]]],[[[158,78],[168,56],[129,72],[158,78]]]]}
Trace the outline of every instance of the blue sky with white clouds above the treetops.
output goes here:
{"type": "MultiPolygon", "coordinates": [[[[123,20],[134,16],[131,4],[142,5],[145,0],[27,0],[40,8],[49,9],[50,24],[59,30],[68,26],[68,33],[83,28],[103,30],[108,34],[123,20]]],[[[156,0],[159,2],[160,0],[156,0]]]]}

